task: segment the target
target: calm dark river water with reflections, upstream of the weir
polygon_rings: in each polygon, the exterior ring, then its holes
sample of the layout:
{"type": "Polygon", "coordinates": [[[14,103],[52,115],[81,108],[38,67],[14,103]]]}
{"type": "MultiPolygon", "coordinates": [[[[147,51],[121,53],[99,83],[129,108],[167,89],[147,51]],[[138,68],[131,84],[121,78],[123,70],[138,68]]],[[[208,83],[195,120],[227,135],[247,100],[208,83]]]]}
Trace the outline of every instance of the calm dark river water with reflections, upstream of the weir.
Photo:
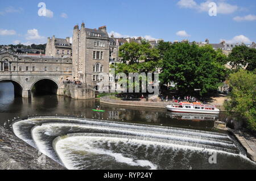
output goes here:
{"type": "MultiPolygon", "coordinates": [[[[79,116],[90,119],[104,119],[127,121],[133,123],[146,123],[156,125],[170,125],[175,127],[212,129],[212,119],[193,120],[180,119],[170,116],[164,109],[123,107],[102,104],[98,100],[75,100],[65,96],[42,95],[32,98],[14,98],[13,85],[0,83],[0,125],[14,117],[40,116],[79,116]],[[105,112],[93,112],[92,109],[100,106],[105,112]]],[[[217,118],[216,118],[217,119],[217,118]]]]}

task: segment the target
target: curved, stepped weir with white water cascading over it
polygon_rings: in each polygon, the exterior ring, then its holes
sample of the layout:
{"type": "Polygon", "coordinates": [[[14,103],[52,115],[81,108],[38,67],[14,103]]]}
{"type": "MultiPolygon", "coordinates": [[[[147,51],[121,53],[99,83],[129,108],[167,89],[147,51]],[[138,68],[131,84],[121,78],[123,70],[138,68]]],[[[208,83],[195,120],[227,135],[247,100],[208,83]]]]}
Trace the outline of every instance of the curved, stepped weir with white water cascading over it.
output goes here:
{"type": "Polygon", "coordinates": [[[72,117],[19,120],[13,131],[68,169],[229,169],[229,159],[255,168],[223,133],[72,117]]]}

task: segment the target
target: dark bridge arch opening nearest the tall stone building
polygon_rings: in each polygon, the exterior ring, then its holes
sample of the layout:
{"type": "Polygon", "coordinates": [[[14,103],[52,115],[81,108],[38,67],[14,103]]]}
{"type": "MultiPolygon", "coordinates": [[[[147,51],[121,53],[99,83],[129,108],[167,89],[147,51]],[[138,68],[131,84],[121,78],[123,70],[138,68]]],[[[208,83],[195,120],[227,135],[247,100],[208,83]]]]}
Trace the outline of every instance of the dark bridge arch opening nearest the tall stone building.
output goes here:
{"type": "Polygon", "coordinates": [[[52,78],[39,78],[30,87],[36,94],[57,94],[59,84],[52,78]]]}

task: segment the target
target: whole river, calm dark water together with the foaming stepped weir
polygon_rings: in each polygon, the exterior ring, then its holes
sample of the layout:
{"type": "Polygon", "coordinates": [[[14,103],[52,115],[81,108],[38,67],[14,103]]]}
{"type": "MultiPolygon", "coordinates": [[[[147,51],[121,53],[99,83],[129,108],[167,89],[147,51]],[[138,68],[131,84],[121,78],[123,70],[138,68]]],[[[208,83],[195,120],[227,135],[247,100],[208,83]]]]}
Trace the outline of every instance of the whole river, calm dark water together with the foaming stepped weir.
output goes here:
{"type": "Polygon", "coordinates": [[[225,113],[177,115],[13,92],[11,83],[0,83],[0,125],[12,125],[16,136],[68,169],[256,169],[236,139],[214,130],[225,113]],[[97,106],[105,112],[93,112],[97,106]]]}

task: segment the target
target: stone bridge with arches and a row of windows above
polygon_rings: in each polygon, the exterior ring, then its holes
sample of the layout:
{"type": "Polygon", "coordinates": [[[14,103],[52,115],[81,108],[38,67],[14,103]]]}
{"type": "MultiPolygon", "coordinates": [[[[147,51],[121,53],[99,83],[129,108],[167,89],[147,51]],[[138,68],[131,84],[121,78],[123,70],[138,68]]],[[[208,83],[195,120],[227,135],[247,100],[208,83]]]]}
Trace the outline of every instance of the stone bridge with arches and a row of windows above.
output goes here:
{"type": "Polygon", "coordinates": [[[31,90],[63,95],[63,81],[72,76],[69,57],[0,53],[0,82],[11,82],[15,95],[29,98],[31,90]]]}

